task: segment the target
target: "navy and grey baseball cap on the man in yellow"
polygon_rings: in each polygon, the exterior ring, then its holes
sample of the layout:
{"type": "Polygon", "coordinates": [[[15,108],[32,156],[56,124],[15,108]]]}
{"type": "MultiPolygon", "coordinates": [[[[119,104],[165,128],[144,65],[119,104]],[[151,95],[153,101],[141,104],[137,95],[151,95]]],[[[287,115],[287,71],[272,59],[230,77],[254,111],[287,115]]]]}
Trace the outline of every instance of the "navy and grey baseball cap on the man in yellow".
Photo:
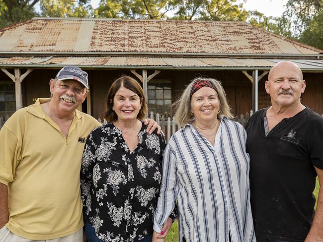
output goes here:
{"type": "Polygon", "coordinates": [[[76,80],[88,89],[87,73],[75,65],[64,66],[56,75],[57,80],[76,80]]]}

